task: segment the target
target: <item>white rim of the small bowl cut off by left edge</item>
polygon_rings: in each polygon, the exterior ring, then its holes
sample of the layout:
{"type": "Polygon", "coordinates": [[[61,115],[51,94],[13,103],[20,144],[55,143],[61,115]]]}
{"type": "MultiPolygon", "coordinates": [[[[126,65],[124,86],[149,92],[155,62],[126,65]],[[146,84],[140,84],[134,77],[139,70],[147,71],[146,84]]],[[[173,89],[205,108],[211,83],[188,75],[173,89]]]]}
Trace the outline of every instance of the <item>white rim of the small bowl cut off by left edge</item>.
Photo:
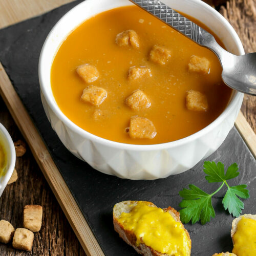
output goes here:
{"type": "Polygon", "coordinates": [[[12,176],[12,173],[13,173],[13,170],[15,167],[15,162],[16,162],[16,153],[15,153],[15,147],[14,147],[12,138],[2,123],[0,123],[0,131],[4,134],[4,137],[7,140],[7,144],[9,146],[9,148],[5,148],[5,150],[10,151],[10,156],[8,158],[9,168],[6,170],[6,174],[3,177],[2,182],[0,183],[2,186],[2,187],[0,187],[0,197],[1,197],[8,181],[10,180],[10,178],[12,176]]]}

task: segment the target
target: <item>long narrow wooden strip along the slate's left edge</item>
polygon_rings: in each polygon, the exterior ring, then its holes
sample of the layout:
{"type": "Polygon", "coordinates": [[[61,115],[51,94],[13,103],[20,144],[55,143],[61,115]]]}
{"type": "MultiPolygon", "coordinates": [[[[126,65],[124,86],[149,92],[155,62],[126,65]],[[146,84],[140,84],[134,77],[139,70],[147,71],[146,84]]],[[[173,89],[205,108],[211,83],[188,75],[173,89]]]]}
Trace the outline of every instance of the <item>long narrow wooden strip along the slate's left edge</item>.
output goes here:
{"type": "MultiPolygon", "coordinates": [[[[37,164],[50,185],[53,194],[64,211],[84,251],[86,251],[87,255],[104,255],[1,63],[0,95],[3,97],[15,123],[27,141],[37,164]]],[[[30,186],[32,185],[34,184],[30,186]]],[[[31,193],[31,197],[33,197],[33,193],[31,193]]]]}

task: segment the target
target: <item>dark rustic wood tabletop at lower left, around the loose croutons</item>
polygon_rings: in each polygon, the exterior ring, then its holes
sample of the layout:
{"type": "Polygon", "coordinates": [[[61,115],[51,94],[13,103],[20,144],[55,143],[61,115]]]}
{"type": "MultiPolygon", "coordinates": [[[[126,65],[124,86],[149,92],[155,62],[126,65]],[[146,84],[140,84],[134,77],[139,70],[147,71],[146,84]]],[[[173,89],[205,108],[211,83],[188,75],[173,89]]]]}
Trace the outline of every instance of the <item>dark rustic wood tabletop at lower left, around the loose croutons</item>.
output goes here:
{"type": "MultiPolygon", "coordinates": [[[[14,141],[23,139],[1,97],[0,122],[9,131],[14,141]]],[[[17,158],[16,169],[18,180],[8,185],[0,198],[0,219],[10,221],[15,228],[22,227],[23,207],[26,204],[40,204],[44,209],[42,227],[35,233],[31,252],[13,249],[11,244],[0,244],[0,255],[85,256],[29,149],[23,157],[17,158]]]]}

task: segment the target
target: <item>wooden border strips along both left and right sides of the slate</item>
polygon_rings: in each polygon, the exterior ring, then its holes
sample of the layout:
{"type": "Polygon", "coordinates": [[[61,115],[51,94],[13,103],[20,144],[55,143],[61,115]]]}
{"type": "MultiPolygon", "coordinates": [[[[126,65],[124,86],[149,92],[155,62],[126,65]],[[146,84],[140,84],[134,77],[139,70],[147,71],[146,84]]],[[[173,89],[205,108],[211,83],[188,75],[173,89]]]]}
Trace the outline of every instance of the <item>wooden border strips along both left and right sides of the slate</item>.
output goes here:
{"type": "MultiPolygon", "coordinates": [[[[67,2],[67,1],[65,1],[67,2]]],[[[34,10],[34,8],[32,8],[34,10]]],[[[45,11],[45,10],[44,10],[45,11]]],[[[36,14],[36,12],[34,12],[36,14]]],[[[37,12],[37,14],[39,14],[37,12]]],[[[1,16],[1,15],[0,15],[1,16]]],[[[7,72],[12,75],[15,72],[15,69],[10,69],[10,66],[7,65],[7,72]]],[[[11,77],[12,80],[15,80],[11,77]]],[[[28,144],[30,145],[31,151],[40,166],[42,172],[44,173],[48,183],[50,184],[61,208],[65,212],[72,228],[74,229],[76,236],[78,237],[81,245],[83,246],[84,250],[87,252],[88,255],[103,255],[103,251],[94,236],[95,230],[92,231],[91,227],[88,225],[86,218],[84,218],[84,212],[86,209],[80,209],[77,204],[77,198],[75,199],[73,194],[74,191],[70,191],[70,184],[67,185],[67,180],[65,181],[62,175],[59,172],[59,168],[56,166],[56,159],[55,162],[53,161],[51,154],[54,154],[51,151],[49,153],[48,148],[46,147],[44,141],[42,140],[41,136],[39,135],[37,128],[31,121],[31,118],[24,108],[24,105],[20,98],[18,97],[15,90],[19,90],[18,87],[12,86],[8,76],[5,73],[3,66],[0,67],[0,93],[4,98],[8,109],[10,110],[15,122],[17,123],[20,131],[22,131],[25,139],[27,140],[28,144]],[[21,118],[22,117],[22,118],[21,118]],[[72,194],[73,193],[73,194],[72,194]]],[[[24,103],[26,103],[25,99],[23,98],[24,103]]],[[[28,105],[27,105],[28,108],[28,105]]],[[[28,108],[31,111],[31,106],[28,108]]],[[[256,156],[256,136],[253,133],[250,125],[246,122],[245,117],[242,113],[239,114],[239,117],[236,121],[236,126],[247,143],[248,147],[251,150],[251,153],[256,156]]],[[[44,131],[40,131],[41,135],[44,137],[44,131]]],[[[236,132],[233,132],[235,136],[238,136],[236,132]]],[[[242,143],[242,142],[240,142],[242,143]]],[[[241,144],[242,145],[242,144],[241,144]]],[[[227,145],[228,146],[228,145],[227,145]]],[[[244,147],[244,154],[245,157],[249,154],[246,151],[246,147],[244,147]]],[[[60,164],[59,164],[60,165],[60,164]]],[[[64,176],[64,175],[63,175],[64,176]]],[[[97,175],[96,175],[97,176],[97,175]]],[[[99,175],[100,176],[100,175],[99,175]]],[[[65,177],[65,176],[64,176],[65,177]]],[[[67,178],[67,176],[66,176],[67,178]]],[[[112,178],[110,178],[111,180],[112,178]]],[[[172,178],[170,178],[172,180],[172,178]]],[[[121,182],[122,183],[122,182],[121,182]]],[[[135,182],[137,183],[137,182],[135,182]]],[[[152,182],[154,184],[154,182],[152,182]]],[[[157,182],[156,182],[157,183],[157,182]]],[[[111,184],[111,182],[110,182],[111,184]]],[[[128,186],[128,185],[127,185],[128,186]]],[[[134,198],[136,199],[136,198],[134,198]]],[[[79,204],[81,207],[81,204],[79,204]]],[[[161,206],[161,205],[159,205],[161,206]]],[[[166,206],[166,205],[165,205],[166,206]]],[[[109,219],[109,218],[108,218],[109,219]]],[[[112,227],[111,227],[112,228],[112,227]]],[[[98,240],[100,240],[98,238],[98,240]]],[[[106,251],[106,249],[105,249],[106,251]]],[[[109,253],[108,253],[109,254],[109,253]]]]}

